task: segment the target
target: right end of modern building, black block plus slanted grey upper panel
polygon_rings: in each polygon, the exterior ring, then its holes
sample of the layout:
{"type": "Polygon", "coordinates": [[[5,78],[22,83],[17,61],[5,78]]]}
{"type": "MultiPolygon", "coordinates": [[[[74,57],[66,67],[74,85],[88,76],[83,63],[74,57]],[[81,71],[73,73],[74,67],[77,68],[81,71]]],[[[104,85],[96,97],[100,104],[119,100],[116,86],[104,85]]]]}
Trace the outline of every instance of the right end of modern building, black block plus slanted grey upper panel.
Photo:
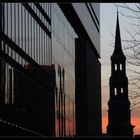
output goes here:
{"type": "Polygon", "coordinates": [[[75,39],[76,136],[101,135],[100,3],[58,3],[75,39]]]}

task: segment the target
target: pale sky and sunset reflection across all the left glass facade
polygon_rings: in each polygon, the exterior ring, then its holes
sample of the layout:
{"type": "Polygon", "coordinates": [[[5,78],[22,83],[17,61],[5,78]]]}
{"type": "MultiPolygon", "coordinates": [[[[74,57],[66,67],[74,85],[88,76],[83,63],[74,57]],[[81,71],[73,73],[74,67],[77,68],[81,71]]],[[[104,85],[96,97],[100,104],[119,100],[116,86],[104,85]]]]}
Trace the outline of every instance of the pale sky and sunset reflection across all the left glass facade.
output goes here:
{"type": "MultiPolygon", "coordinates": [[[[49,37],[45,33],[22,3],[4,3],[4,33],[39,65],[55,65],[55,134],[73,136],[75,135],[75,38],[77,35],[56,3],[39,3],[51,19],[51,24],[44,19],[35,3],[28,3],[28,5],[52,36],[49,37]]],[[[6,44],[5,52],[23,67],[29,65],[6,44]]],[[[8,63],[4,65],[3,102],[8,105],[15,104],[19,99],[14,92],[14,67],[8,63]]]]}

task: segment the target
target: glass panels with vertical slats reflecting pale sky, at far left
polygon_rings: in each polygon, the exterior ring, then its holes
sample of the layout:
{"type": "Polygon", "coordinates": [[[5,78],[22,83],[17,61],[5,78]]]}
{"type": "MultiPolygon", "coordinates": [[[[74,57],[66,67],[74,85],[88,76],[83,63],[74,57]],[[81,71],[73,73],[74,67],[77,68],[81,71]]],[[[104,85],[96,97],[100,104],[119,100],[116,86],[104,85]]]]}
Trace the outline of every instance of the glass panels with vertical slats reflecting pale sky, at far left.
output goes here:
{"type": "MultiPolygon", "coordinates": [[[[50,18],[49,3],[39,3],[50,18]]],[[[32,10],[37,14],[42,23],[51,29],[50,24],[46,21],[34,3],[28,3],[32,10]]],[[[51,60],[51,38],[45,33],[40,25],[34,20],[22,3],[4,3],[4,33],[14,41],[27,55],[29,55],[39,65],[50,65],[51,60]]],[[[29,63],[14,52],[8,45],[5,45],[5,53],[13,58],[23,67],[29,63]]],[[[5,103],[14,104],[14,85],[13,79],[10,79],[9,70],[13,75],[13,67],[5,64],[5,103]],[[12,80],[12,81],[10,81],[12,80]],[[10,83],[12,83],[10,88],[10,83]],[[10,94],[12,95],[10,101],[10,94]]],[[[13,76],[12,76],[13,77],[13,76]]]]}

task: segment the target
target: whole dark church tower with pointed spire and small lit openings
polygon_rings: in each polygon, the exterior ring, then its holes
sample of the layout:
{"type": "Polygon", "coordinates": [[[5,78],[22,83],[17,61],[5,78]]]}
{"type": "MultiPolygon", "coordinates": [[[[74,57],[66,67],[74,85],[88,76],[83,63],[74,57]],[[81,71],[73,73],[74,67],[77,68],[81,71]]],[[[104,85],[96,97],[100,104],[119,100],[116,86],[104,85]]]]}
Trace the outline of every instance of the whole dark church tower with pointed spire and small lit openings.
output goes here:
{"type": "Polygon", "coordinates": [[[122,51],[119,17],[117,12],[115,49],[111,56],[110,99],[108,102],[107,134],[112,136],[133,136],[130,101],[128,99],[128,78],[126,57],[122,51]]]}

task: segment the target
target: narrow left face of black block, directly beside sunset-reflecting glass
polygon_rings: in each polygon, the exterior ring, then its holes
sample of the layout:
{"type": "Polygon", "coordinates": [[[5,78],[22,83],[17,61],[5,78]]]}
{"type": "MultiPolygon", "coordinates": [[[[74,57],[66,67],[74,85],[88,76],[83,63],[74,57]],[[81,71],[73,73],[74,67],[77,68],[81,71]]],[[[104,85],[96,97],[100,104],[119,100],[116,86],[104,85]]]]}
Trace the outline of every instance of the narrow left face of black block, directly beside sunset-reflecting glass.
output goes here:
{"type": "Polygon", "coordinates": [[[86,40],[75,40],[76,135],[87,135],[86,40]],[[84,44],[83,44],[84,43],[84,44]]]}

